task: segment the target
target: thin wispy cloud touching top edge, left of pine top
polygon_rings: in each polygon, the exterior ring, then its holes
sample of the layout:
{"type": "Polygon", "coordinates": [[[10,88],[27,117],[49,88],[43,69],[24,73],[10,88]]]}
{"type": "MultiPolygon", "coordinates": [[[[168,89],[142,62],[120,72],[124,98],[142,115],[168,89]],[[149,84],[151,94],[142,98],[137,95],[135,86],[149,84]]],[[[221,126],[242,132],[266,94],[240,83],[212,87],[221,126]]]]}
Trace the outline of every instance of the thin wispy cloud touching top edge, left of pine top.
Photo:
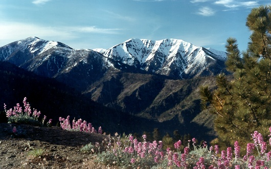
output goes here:
{"type": "Polygon", "coordinates": [[[233,1],[233,0],[219,0],[219,1],[216,1],[214,4],[223,5],[227,8],[238,8],[238,7],[253,8],[253,7],[259,6],[257,1],[240,2],[240,1],[233,1]]]}

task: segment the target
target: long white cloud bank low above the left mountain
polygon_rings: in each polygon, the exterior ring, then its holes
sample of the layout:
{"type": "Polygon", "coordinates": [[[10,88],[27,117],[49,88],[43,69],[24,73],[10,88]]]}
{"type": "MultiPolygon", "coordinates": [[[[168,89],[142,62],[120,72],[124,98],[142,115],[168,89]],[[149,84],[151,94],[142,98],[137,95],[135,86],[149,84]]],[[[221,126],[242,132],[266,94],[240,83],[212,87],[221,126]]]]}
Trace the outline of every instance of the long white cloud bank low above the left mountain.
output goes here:
{"type": "Polygon", "coordinates": [[[90,27],[43,27],[40,25],[3,22],[0,25],[0,47],[30,36],[44,39],[72,40],[79,38],[81,33],[118,34],[121,29],[90,27]]]}

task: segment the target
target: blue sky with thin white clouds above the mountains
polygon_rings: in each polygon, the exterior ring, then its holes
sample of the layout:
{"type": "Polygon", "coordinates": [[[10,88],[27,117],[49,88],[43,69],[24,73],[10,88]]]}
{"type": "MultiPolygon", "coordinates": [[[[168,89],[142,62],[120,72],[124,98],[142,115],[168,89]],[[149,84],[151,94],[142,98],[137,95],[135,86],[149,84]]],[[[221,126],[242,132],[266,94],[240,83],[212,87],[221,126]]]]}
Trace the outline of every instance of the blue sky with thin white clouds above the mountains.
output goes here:
{"type": "Polygon", "coordinates": [[[251,9],[270,1],[1,0],[0,46],[37,36],[75,49],[108,49],[130,38],[183,39],[224,51],[228,37],[245,50],[251,9]]]}

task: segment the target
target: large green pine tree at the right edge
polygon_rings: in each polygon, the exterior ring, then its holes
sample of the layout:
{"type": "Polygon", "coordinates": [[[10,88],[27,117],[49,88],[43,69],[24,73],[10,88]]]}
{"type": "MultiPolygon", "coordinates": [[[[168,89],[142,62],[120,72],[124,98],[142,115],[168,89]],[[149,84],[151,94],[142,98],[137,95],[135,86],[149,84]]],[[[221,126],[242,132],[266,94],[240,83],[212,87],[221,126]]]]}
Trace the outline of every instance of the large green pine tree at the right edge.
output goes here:
{"type": "Polygon", "coordinates": [[[225,65],[233,76],[219,74],[213,91],[200,88],[202,105],[217,115],[215,130],[224,146],[236,140],[245,145],[254,131],[267,139],[271,126],[271,6],[252,9],[246,26],[252,34],[245,52],[235,38],[225,45],[225,65]]]}

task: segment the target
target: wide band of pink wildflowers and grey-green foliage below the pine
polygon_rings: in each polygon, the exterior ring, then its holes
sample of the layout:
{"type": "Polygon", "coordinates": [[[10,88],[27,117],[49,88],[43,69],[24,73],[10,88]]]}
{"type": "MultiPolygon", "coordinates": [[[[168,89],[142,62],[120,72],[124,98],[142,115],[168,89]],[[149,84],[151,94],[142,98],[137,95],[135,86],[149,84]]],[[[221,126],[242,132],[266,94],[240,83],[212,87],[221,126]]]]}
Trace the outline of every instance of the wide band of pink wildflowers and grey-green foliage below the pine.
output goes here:
{"type": "MultiPolygon", "coordinates": [[[[269,128],[271,133],[271,128],[269,128]]],[[[271,136],[271,135],[270,135],[271,136]]],[[[117,165],[123,168],[270,168],[271,151],[267,152],[267,143],[257,131],[252,134],[253,143],[248,143],[246,155],[240,156],[239,142],[235,141],[234,147],[219,151],[218,145],[208,147],[204,142],[196,144],[193,138],[193,147],[183,147],[182,141],[174,143],[175,149],[162,150],[162,141],[147,142],[146,135],[140,142],[133,136],[110,137],[107,140],[106,151],[96,155],[97,162],[106,165],[117,165]],[[182,151],[181,151],[182,150],[182,151]],[[257,155],[258,152],[258,155],[257,155]]],[[[269,141],[271,145],[271,142],[269,141]]]]}

